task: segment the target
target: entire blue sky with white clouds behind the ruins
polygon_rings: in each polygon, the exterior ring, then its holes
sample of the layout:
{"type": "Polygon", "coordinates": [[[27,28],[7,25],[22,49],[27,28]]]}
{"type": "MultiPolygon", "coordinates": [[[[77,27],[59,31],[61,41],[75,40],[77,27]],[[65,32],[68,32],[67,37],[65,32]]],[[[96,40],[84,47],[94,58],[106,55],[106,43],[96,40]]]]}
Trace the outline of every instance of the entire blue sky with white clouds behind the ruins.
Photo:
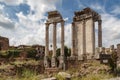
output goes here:
{"type": "MultiPolygon", "coordinates": [[[[10,45],[44,45],[47,12],[58,10],[66,21],[65,45],[70,46],[74,11],[85,7],[102,16],[103,46],[120,43],[120,0],[0,0],[0,36],[8,37],[10,45]]],[[[58,24],[58,47],[60,29],[58,24]]],[[[52,44],[52,27],[50,36],[52,44]]]]}

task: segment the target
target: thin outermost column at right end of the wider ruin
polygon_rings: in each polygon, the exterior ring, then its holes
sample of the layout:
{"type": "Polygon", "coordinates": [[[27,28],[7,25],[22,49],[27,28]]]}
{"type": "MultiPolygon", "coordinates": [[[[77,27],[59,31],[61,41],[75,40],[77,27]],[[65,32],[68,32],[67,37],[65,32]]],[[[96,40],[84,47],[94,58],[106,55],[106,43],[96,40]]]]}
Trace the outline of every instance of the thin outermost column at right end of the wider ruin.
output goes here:
{"type": "Polygon", "coordinates": [[[98,47],[102,47],[102,20],[98,20],[98,47]]]}

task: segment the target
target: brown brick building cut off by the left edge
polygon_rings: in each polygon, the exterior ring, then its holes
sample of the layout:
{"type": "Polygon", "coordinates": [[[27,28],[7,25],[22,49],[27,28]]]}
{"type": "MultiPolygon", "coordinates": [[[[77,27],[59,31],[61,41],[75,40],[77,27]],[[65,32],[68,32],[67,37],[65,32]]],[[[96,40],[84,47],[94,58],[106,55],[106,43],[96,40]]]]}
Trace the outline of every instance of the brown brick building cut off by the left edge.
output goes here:
{"type": "Polygon", "coordinates": [[[0,50],[8,50],[8,49],[9,49],[9,39],[0,36],[0,50]]]}

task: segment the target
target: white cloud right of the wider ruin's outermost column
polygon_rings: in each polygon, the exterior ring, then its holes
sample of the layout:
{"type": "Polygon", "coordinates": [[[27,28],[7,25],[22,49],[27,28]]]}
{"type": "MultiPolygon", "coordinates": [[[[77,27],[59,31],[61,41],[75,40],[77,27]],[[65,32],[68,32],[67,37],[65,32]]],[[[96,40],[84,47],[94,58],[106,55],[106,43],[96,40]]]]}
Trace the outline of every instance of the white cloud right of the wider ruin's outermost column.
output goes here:
{"type": "Polygon", "coordinates": [[[120,19],[108,13],[102,14],[103,45],[109,46],[120,42],[120,19]]]}

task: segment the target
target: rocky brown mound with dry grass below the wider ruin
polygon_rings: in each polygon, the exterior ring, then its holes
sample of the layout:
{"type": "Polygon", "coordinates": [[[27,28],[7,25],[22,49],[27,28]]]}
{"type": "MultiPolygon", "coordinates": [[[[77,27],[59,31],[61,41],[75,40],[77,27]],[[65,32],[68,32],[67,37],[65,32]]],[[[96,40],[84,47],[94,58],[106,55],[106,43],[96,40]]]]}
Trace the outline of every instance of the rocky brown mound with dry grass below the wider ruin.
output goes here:
{"type": "Polygon", "coordinates": [[[109,73],[110,67],[100,63],[83,63],[78,70],[72,73],[72,77],[84,77],[89,74],[109,73]]]}

